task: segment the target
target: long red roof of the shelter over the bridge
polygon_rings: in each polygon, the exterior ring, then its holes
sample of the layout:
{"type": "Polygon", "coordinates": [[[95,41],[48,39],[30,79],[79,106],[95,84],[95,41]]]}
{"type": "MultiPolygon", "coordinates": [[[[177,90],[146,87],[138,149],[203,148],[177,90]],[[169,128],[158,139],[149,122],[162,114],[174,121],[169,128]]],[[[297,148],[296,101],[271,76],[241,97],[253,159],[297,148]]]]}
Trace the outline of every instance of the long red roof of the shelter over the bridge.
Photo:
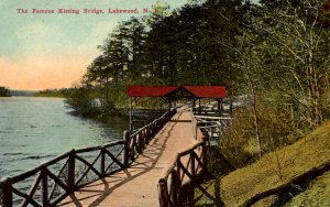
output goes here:
{"type": "Polygon", "coordinates": [[[227,97],[223,86],[129,86],[130,97],[166,97],[176,89],[183,88],[197,98],[224,98],[227,97]]]}

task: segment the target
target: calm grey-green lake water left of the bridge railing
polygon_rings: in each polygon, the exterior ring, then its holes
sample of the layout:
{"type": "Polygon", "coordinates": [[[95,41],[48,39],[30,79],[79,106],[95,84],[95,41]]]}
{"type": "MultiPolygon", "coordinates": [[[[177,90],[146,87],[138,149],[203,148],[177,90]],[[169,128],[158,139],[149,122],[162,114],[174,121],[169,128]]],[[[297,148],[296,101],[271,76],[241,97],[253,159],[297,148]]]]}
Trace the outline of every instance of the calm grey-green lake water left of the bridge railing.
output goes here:
{"type": "Polygon", "coordinates": [[[72,116],[64,99],[0,98],[0,177],[30,170],[72,149],[122,139],[128,123],[72,116]]]}

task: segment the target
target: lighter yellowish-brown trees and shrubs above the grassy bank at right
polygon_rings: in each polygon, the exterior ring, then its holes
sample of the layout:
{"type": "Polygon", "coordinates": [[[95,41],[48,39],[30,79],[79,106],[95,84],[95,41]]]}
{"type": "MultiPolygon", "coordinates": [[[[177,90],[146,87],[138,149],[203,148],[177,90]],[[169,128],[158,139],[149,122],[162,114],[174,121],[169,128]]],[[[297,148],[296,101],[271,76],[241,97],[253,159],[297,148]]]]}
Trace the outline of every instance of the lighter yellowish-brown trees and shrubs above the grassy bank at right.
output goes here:
{"type": "Polygon", "coordinates": [[[224,138],[226,153],[235,166],[254,160],[251,149],[261,157],[329,116],[330,32],[321,15],[324,8],[323,1],[308,0],[250,4],[235,42],[220,42],[234,51],[234,94],[251,99],[250,110],[237,112],[230,140],[224,138]]]}

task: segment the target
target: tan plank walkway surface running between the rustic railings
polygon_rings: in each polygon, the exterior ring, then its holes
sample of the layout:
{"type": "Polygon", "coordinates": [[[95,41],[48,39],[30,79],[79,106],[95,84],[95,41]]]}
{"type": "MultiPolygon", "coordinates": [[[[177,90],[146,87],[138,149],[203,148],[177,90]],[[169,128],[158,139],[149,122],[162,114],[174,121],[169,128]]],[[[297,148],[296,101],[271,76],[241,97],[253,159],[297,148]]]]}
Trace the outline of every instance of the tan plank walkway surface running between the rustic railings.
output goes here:
{"type": "Polygon", "coordinates": [[[58,206],[158,206],[158,179],[177,153],[195,143],[191,112],[179,111],[129,168],[81,188],[58,206]]]}

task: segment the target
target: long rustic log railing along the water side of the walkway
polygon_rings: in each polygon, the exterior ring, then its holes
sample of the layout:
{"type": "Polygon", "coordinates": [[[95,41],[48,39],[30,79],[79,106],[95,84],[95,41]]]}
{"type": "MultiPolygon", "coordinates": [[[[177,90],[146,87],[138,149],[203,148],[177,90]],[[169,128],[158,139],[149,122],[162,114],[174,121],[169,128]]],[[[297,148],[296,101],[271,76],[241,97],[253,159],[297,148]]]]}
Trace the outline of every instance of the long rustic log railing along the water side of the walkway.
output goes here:
{"type": "Polygon", "coordinates": [[[75,190],[128,167],[175,113],[176,110],[167,111],[133,134],[124,131],[121,141],[72,150],[1,181],[0,204],[3,207],[55,206],[75,190]]]}

